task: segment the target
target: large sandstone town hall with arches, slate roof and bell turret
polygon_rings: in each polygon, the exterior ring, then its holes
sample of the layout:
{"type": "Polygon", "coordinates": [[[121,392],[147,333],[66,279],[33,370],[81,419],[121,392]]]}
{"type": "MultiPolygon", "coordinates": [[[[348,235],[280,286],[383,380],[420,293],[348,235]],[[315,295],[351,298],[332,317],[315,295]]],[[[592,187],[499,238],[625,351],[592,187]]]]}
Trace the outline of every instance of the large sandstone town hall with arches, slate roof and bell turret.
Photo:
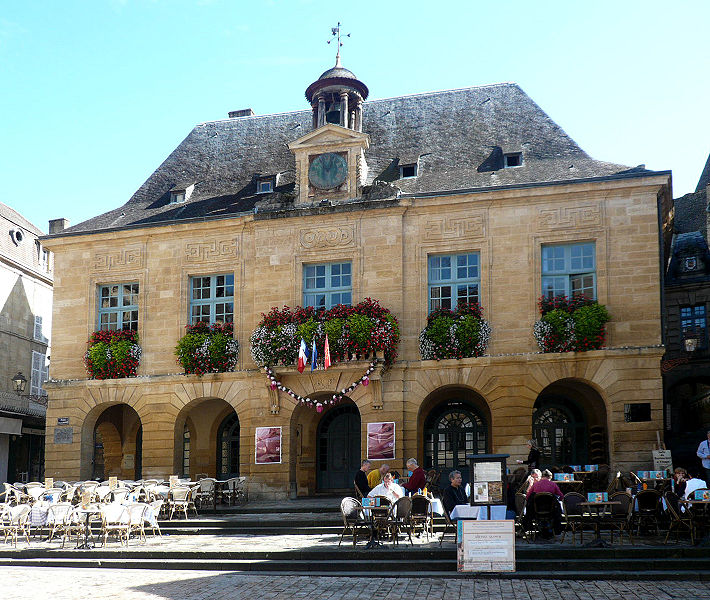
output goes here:
{"type": "MultiPolygon", "coordinates": [[[[336,64],[308,87],[310,110],[201,123],[127,204],[46,238],[59,274],[48,476],[239,473],[252,495],[340,490],[373,422],[396,423],[400,471],[410,456],[444,471],[472,452],[524,458],[533,432],[558,461],[650,467],[670,173],[590,158],[515,84],[367,95],[336,64]],[[540,353],[543,288],[579,283],[612,315],[608,348],[540,353]],[[461,293],[490,322],[487,354],[421,360],[427,314],[461,293]],[[390,369],[322,414],[269,388],[249,353],[261,313],[366,297],[399,319],[390,369]],[[190,315],[216,311],[234,321],[237,370],[177,374],[190,315]],[[139,377],[86,379],[101,323],[138,331],[139,377]],[[279,464],[255,464],[262,426],[282,430],[279,464]]],[[[277,371],[329,398],[366,367],[277,371]]]]}

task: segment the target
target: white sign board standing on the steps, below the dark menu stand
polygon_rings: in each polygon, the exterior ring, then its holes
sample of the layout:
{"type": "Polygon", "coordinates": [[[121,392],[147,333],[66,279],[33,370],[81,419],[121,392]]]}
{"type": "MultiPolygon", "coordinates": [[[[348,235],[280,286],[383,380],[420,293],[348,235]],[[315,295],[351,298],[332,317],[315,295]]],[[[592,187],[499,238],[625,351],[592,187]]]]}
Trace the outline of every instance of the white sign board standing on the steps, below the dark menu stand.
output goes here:
{"type": "Polygon", "coordinates": [[[515,521],[458,521],[456,555],[459,573],[515,571],[515,521]]]}

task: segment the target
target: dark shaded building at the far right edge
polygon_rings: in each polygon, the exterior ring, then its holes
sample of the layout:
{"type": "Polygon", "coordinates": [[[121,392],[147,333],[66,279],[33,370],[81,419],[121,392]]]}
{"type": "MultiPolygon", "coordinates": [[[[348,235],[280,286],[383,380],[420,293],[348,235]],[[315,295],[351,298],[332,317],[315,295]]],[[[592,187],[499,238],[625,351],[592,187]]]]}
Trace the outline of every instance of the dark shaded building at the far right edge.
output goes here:
{"type": "Polygon", "coordinates": [[[710,428],[709,189],[710,156],[695,192],[674,201],[665,282],[665,439],[674,464],[685,467],[698,465],[695,453],[710,428]]]}

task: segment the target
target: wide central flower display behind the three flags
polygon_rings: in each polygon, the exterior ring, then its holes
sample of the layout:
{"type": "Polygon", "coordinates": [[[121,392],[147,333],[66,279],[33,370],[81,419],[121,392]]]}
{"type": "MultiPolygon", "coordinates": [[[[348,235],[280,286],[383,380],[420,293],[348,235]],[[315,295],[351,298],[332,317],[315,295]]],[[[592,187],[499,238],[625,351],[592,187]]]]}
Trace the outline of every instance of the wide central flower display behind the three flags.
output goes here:
{"type": "Polygon", "coordinates": [[[330,310],[312,306],[272,308],[251,334],[251,355],[261,366],[290,366],[298,361],[298,348],[305,340],[311,348],[315,339],[318,356],[323,357],[328,336],[333,363],[384,355],[386,365],[397,358],[399,324],[377,300],[365,298],[356,306],[338,304],[330,310]]]}

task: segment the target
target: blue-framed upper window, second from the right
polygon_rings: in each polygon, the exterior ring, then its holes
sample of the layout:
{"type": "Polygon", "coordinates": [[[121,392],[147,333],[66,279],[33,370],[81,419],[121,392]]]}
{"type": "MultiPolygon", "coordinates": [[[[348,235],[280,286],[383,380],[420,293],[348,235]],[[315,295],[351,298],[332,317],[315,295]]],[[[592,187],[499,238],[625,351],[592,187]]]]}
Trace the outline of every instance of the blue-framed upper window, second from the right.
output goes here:
{"type": "Polygon", "coordinates": [[[477,252],[429,257],[429,312],[455,310],[459,302],[478,302],[481,285],[477,252]]]}

